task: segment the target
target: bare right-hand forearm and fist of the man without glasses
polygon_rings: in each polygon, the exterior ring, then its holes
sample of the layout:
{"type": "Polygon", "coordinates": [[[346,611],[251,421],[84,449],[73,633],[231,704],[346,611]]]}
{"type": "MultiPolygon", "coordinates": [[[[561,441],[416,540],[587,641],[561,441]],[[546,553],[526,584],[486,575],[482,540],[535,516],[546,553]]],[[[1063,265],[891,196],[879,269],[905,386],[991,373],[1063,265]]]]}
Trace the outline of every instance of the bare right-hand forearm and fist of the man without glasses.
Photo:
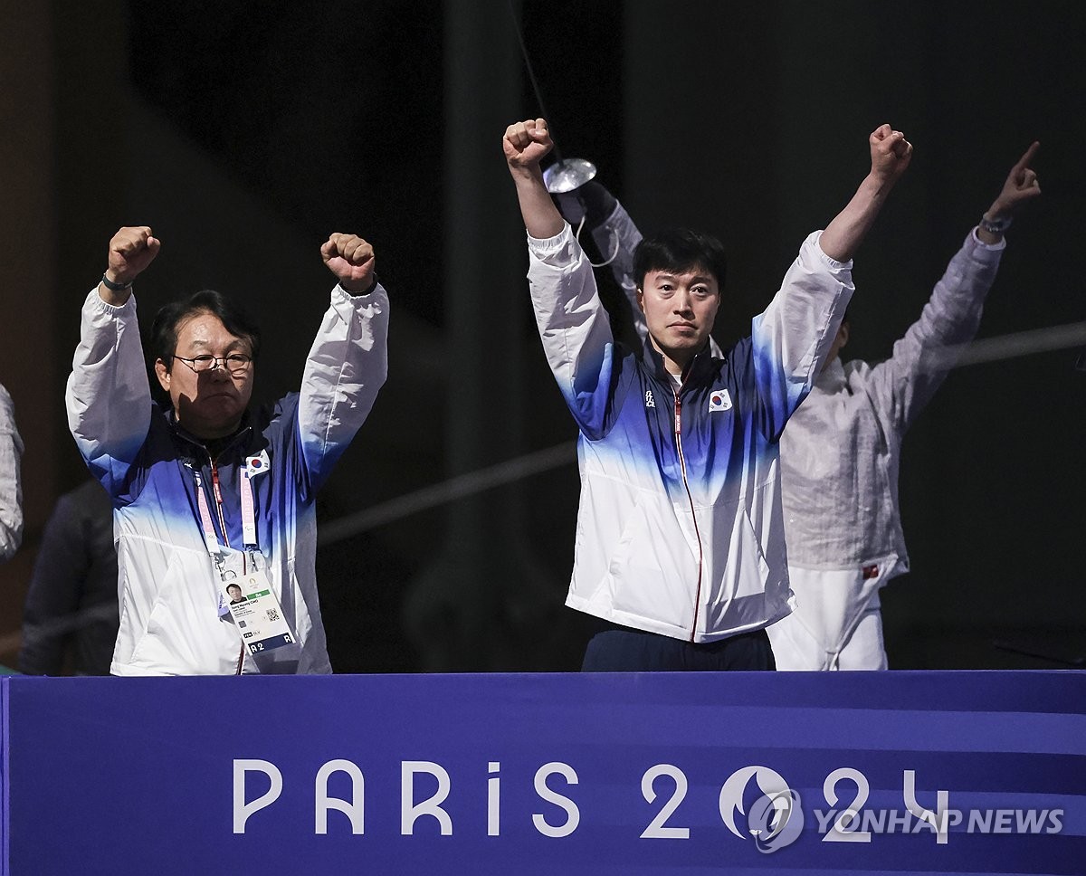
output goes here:
{"type": "Polygon", "coordinates": [[[819,245],[836,262],[848,262],[874,225],[894,183],[912,160],[912,143],[899,130],[881,125],[868,138],[871,172],[841,213],[822,232],[819,245]]]}

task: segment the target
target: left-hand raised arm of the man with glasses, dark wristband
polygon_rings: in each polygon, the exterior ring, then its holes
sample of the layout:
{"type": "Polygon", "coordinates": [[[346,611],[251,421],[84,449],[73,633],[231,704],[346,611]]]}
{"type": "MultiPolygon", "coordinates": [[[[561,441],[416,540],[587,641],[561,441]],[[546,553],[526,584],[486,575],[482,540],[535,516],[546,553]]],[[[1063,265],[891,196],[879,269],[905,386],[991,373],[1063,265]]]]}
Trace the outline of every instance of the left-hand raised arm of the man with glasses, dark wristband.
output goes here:
{"type": "Polygon", "coordinates": [[[131,290],[160,245],[147,226],[122,228],[113,236],[105,272],[84,302],[67,382],[68,428],[91,473],[111,495],[116,495],[151,422],[151,390],[131,290]]]}

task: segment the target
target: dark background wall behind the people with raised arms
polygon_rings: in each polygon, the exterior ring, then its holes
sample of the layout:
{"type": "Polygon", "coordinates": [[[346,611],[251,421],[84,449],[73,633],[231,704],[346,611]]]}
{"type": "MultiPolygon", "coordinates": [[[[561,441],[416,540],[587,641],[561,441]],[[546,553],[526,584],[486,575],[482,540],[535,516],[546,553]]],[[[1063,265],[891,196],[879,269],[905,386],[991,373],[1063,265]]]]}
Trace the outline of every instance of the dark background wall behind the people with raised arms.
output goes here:
{"type": "MultiPolygon", "coordinates": [[[[857,257],[849,355],[889,354],[1033,139],[1045,194],[1008,234],[981,334],[1086,316],[1076,4],[513,9],[563,151],[593,160],[643,229],[725,241],[722,343],[850,196],[882,122],[915,157],[857,257]]],[[[377,247],[390,380],[318,507],[337,670],[574,668],[574,430],[539,352],[500,150],[504,126],[538,112],[510,4],[115,0],[3,16],[4,265],[20,279],[0,381],[27,443],[28,526],[0,569],[0,662],[45,518],[83,477],[63,415],[79,302],[116,228],[149,224],[164,246],[137,293],[144,321],[198,288],[239,295],[267,335],[268,398],[296,386],[326,304],[320,242],[349,230],[377,247]],[[472,472],[501,465],[510,480],[471,492],[472,472]],[[440,500],[416,495],[450,479],[440,500]]],[[[1052,665],[996,639],[1086,652],[1075,354],[963,368],[908,437],[913,572],[884,592],[892,666],[1052,665]]]]}

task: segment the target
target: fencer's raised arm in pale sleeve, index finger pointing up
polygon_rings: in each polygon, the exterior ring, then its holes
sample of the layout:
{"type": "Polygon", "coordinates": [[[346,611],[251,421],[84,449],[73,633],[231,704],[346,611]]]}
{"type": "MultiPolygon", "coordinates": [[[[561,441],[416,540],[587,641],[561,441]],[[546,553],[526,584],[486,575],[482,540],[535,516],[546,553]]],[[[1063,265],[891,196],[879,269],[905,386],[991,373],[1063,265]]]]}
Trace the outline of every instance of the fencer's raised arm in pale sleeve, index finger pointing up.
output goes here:
{"type": "Polygon", "coordinates": [[[870,385],[876,407],[899,433],[943,383],[958,346],[976,334],[984,300],[1007,245],[1003,231],[1019,208],[1040,194],[1037,174],[1030,167],[1039,145],[1033,143],[1011,167],[981,224],[970,231],[935,284],[920,319],[894,344],[894,355],[872,369],[870,385]]]}

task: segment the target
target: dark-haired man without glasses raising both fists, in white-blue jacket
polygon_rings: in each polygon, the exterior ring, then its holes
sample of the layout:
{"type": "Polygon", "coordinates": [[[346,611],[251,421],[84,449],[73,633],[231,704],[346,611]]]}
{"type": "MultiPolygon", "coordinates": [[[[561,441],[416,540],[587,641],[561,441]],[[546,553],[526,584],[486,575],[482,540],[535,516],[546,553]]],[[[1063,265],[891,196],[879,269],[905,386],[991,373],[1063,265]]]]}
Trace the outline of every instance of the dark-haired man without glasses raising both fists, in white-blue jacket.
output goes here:
{"type": "Polygon", "coordinates": [[[778,442],[830,354],[853,253],[912,152],[889,126],[869,147],[856,195],[804,242],[752,335],[719,357],[721,244],[684,229],[642,241],[631,268],[646,340],[622,347],[544,186],[545,120],[507,128],[540,337],[580,429],[566,605],[609,627],[585,670],[773,669],[766,627],[791,610],[778,442]]]}

